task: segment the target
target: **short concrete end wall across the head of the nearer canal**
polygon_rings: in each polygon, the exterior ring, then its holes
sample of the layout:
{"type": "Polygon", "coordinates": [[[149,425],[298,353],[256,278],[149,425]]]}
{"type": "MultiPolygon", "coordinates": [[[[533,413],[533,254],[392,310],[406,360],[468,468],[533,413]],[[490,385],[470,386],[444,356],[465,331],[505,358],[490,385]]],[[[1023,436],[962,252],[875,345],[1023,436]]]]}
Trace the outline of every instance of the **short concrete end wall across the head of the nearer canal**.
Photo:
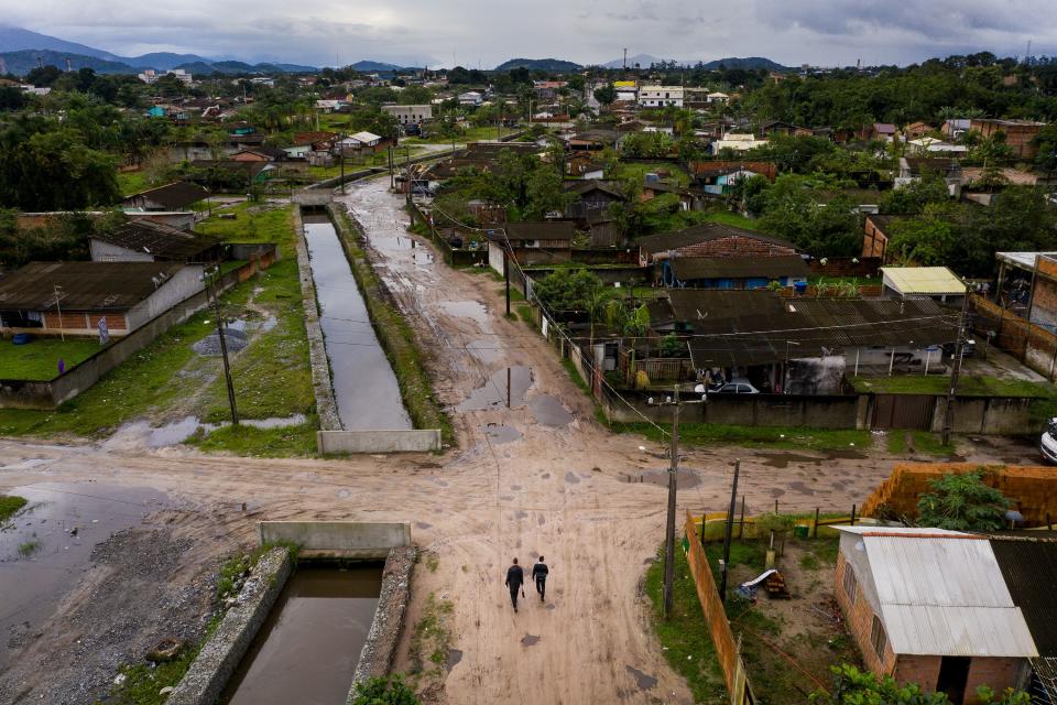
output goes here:
{"type": "Polygon", "coordinates": [[[262,521],[261,543],[295,543],[302,555],[384,557],[411,545],[411,524],[359,521],[262,521]]]}

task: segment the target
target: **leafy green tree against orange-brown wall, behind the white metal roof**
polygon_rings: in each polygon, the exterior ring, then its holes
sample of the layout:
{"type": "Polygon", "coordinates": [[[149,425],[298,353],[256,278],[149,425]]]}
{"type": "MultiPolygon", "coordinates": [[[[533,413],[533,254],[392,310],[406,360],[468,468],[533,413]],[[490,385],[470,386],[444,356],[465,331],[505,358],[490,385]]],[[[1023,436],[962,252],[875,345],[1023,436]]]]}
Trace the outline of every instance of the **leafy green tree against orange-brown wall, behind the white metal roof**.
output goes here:
{"type": "Polygon", "coordinates": [[[917,523],[952,531],[998,531],[1010,500],[983,481],[983,471],[944,475],[917,500],[917,523]]]}

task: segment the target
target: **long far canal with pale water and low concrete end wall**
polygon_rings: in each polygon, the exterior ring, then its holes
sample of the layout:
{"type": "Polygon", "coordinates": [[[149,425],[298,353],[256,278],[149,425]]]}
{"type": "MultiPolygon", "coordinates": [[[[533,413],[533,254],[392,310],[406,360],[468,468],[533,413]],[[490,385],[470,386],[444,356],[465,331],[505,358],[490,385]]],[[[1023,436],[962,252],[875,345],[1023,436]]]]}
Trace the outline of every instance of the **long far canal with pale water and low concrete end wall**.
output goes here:
{"type": "Polygon", "coordinates": [[[341,426],[319,432],[320,453],[438,449],[438,431],[412,426],[334,224],[325,213],[302,220],[341,426]]]}

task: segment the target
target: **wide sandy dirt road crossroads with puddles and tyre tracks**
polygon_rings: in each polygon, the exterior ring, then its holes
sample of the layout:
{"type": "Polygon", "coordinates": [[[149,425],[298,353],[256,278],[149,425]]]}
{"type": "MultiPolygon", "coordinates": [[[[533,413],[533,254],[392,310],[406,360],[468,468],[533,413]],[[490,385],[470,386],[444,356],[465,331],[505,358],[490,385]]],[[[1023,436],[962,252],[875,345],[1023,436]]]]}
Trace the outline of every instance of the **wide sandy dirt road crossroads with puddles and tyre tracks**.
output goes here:
{"type": "MultiPolygon", "coordinates": [[[[461,652],[431,693],[433,702],[691,702],[652,636],[641,595],[645,564],[663,540],[665,460],[640,451],[642,438],[599,426],[554,351],[525,324],[503,317],[500,285],[435,260],[427,243],[406,234],[402,200],[386,186],[388,180],[361,183],[344,200],[431,352],[457,449],[251,459],[0,441],[0,489],[95,480],[165,492],[179,502],[181,535],[192,542],[182,565],[248,544],[261,519],[408,521],[415,542],[437,560],[434,571],[416,568],[408,623],[427,595],[445,596],[455,606],[451,647],[461,652]],[[656,484],[628,481],[654,471],[656,484]],[[525,608],[514,615],[503,587],[506,566],[512,556],[531,565],[540,553],[551,565],[547,604],[534,601],[530,587],[525,608]],[[523,642],[526,636],[538,639],[523,642]]],[[[722,509],[734,457],[742,458],[749,511],[766,510],[776,498],[785,509],[850,508],[891,469],[892,458],[862,451],[844,457],[691,451],[683,462],[688,473],[679,511],[722,509]]],[[[1005,444],[969,447],[966,455],[1032,462],[1028,452],[1005,444]]],[[[61,628],[52,623],[44,632],[61,628]]],[[[397,668],[407,665],[407,641],[397,668]]],[[[46,663],[45,649],[39,651],[28,652],[26,664],[46,663]]]]}

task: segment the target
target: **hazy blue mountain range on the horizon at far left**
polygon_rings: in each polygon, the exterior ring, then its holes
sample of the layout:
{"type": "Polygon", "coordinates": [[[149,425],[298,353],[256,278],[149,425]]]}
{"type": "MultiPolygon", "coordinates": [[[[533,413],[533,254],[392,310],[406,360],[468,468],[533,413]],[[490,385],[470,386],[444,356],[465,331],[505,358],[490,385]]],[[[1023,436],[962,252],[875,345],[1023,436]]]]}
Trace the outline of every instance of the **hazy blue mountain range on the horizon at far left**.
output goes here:
{"type": "Polygon", "coordinates": [[[67,42],[18,26],[0,25],[0,57],[13,74],[25,74],[37,65],[52,64],[65,68],[69,57],[70,67],[92,68],[100,74],[135,74],[144,68],[168,70],[183,68],[192,74],[240,74],[240,73],[302,73],[316,72],[315,66],[299,64],[259,63],[247,64],[236,61],[217,61],[197,54],[174,54],[153,52],[141,56],[119,56],[110,52],[67,42]]]}

